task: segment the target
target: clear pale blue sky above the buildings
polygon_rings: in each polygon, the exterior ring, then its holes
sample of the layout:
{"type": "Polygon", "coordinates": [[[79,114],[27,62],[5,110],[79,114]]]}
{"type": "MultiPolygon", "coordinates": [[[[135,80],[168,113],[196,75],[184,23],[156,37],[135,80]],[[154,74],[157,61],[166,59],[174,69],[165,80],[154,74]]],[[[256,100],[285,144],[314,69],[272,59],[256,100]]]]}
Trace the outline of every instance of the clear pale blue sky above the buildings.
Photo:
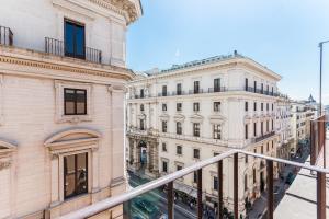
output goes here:
{"type": "MultiPolygon", "coordinates": [[[[318,100],[318,43],[329,39],[329,0],[143,0],[128,28],[127,65],[169,68],[235,49],[283,77],[293,99],[318,100]]],[[[324,102],[329,104],[329,44],[324,48],[324,102]]]]}

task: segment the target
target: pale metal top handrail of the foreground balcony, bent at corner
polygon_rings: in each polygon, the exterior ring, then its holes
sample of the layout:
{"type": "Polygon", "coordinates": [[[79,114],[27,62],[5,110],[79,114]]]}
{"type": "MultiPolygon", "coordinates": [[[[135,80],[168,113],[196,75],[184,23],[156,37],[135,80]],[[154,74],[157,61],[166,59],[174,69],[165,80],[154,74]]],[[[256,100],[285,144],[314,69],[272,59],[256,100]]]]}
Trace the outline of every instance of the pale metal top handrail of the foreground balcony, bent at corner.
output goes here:
{"type": "MultiPolygon", "coordinates": [[[[260,158],[260,159],[264,159],[268,162],[272,163],[273,166],[273,162],[279,162],[279,163],[284,163],[284,164],[288,164],[288,165],[294,165],[294,166],[298,166],[302,169],[307,169],[310,171],[316,171],[320,174],[329,174],[329,169],[322,169],[322,168],[318,168],[318,166],[314,166],[314,165],[309,165],[309,164],[303,164],[303,163],[297,163],[294,161],[288,161],[288,160],[283,160],[280,158],[272,158],[269,155],[263,155],[263,154],[258,154],[258,153],[252,153],[252,152],[248,152],[248,151],[243,151],[243,150],[238,150],[238,149],[232,149],[229,150],[227,152],[224,152],[219,155],[206,159],[204,161],[200,161],[191,166],[184,168],[180,171],[177,171],[174,173],[168,174],[166,176],[162,176],[160,178],[154,180],[149,183],[146,183],[144,185],[140,185],[138,187],[133,188],[132,191],[128,191],[122,195],[118,196],[113,196],[110,198],[106,198],[104,200],[101,200],[99,203],[95,203],[91,206],[87,206],[82,209],[79,209],[77,211],[67,214],[65,216],[61,216],[60,219],[80,219],[80,218],[88,218],[88,217],[92,217],[94,215],[98,215],[102,211],[109,210],[115,206],[118,206],[125,201],[128,201],[141,194],[148,193],[152,189],[156,189],[160,186],[163,186],[166,184],[170,184],[173,181],[181,178],[188,174],[191,174],[195,171],[200,171],[203,168],[211,165],[211,164],[216,164],[218,162],[220,162],[223,159],[235,155],[235,158],[237,158],[236,155],[238,155],[238,153],[242,153],[246,155],[251,155],[254,158],[260,158]]],[[[273,180],[273,178],[272,178],[273,180]]]]}

